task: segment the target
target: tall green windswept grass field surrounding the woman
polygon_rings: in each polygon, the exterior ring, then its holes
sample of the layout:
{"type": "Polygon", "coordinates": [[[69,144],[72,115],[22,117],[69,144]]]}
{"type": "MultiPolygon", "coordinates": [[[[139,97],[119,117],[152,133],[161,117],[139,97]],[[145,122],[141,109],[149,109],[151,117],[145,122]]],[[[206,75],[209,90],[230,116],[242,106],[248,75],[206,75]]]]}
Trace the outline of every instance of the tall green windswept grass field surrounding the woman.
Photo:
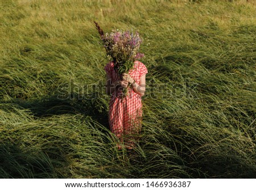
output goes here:
{"type": "Polygon", "coordinates": [[[255,178],[253,1],[0,0],[0,20],[0,178],[255,178]],[[131,154],[109,131],[93,20],[144,39],[131,154]]]}

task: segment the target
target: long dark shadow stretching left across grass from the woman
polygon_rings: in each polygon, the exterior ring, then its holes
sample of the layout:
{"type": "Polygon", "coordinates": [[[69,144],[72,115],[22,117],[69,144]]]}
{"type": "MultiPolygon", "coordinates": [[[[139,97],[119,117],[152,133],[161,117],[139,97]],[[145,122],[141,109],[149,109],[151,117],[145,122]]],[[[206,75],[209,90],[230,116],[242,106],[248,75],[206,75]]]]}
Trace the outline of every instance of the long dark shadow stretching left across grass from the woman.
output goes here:
{"type": "MultiPolygon", "coordinates": [[[[74,97],[78,97],[74,96],[74,97]]],[[[9,102],[17,104],[24,109],[30,109],[35,117],[50,117],[63,114],[82,114],[92,117],[101,125],[108,126],[108,108],[97,99],[59,99],[57,95],[46,96],[41,99],[12,99],[9,102]]]]}

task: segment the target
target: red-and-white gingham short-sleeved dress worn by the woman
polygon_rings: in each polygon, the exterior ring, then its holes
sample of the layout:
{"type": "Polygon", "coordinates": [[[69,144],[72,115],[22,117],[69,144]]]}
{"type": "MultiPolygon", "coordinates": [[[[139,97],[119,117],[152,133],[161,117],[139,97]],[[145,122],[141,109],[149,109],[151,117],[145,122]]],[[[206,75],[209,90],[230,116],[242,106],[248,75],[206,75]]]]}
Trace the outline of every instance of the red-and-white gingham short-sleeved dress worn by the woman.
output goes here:
{"type": "MultiPolygon", "coordinates": [[[[112,83],[119,80],[118,73],[114,69],[114,62],[109,62],[104,70],[111,77],[112,83]]],[[[129,71],[131,78],[139,84],[141,76],[147,74],[146,66],[140,62],[134,62],[134,68],[129,71]]],[[[122,90],[115,89],[109,102],[109,126],[112,133],[123,142],[123,135],[133,138],[135,133],[141,130],[142,120],[142,102],[141,96],[138,95],[131,87],[128,88],[127,96],[121,98],[122,90]]],[[[131,146],[130,140],[125,140],[128,146],[131,146]]]]}

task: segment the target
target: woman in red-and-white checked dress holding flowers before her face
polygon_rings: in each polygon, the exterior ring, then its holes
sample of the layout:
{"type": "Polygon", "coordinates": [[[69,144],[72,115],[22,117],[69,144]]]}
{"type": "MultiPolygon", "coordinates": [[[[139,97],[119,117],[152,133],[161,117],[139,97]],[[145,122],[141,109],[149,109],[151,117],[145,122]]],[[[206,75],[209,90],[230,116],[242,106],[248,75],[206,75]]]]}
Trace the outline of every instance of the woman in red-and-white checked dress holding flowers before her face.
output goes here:
{"type": "Polygon", "coordinates": [[[118,66],[117,62],[112,61],[104,67],[107,81],[106,93],[112,95],[109,103],[109,125],[111,132],[120,141],[118,149],[122,149],[122,144],[127,149],[132,149],[135,136],[141,130],[141,96],[146,91],[148,72],[142,62],[135,61],[129,73],[119,76],[118,66]],[[126,96],[123,96],[123,88],[127,88],[126,96]]]}

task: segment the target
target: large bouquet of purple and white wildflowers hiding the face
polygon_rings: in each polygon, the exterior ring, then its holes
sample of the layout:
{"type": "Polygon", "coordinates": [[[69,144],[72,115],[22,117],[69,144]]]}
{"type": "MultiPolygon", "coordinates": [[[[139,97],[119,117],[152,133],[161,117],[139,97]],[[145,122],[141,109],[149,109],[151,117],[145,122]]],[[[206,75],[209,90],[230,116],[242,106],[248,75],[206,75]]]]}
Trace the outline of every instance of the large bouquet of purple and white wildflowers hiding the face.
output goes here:
{"type": "MultiPolygon", "coordinates": [[[[130,69],[133,69],[134,61],[144,56],[139,53],[139,47],[143,41],[139,33],[113,29],[111,33],[104,34],[98,23],[94,23],[104,43],[106,54],[113,59],[119,76],[128,73],[130,69]]],[[[124,92],[126,94],[127,89],[124,92]]]]}

